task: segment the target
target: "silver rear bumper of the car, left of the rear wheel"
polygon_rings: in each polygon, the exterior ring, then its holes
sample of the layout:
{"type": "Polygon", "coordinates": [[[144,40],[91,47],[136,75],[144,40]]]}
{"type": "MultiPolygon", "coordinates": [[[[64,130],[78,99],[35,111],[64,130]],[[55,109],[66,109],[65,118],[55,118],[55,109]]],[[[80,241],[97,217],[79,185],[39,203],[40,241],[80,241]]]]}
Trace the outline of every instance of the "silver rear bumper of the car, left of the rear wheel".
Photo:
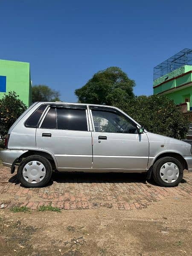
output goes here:
{"type": "Polygon", "coordinates": [[[6,149],[0,151],[0,160],[4,166],[12,167],[12,163],[28,150],[6,149]]]}

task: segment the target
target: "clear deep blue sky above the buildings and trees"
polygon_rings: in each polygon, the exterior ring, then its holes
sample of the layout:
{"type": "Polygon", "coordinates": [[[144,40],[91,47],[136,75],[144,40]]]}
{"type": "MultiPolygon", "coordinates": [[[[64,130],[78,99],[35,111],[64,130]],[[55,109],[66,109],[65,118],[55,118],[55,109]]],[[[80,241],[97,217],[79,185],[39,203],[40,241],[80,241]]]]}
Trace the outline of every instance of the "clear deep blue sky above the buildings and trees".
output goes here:
{"type": "Polygon", "coordinates": [[[190,0],[0,0],[0,59],[30,62],[32,83],[66,102],[110,66],[151,95],[153,67],[192,48],[191,10],[190,0]]]}

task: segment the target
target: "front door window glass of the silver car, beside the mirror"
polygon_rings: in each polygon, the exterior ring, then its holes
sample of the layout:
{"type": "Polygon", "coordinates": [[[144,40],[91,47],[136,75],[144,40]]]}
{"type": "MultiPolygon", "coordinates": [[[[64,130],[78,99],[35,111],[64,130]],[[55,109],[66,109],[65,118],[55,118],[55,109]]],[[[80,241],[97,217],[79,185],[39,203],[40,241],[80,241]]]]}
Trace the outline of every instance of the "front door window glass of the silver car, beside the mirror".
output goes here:
{"type": "Polygon", "coordinates": [[[92,110],[92,116],[95,131],[137,134],[137,126],[120,113],[92,110]]]}

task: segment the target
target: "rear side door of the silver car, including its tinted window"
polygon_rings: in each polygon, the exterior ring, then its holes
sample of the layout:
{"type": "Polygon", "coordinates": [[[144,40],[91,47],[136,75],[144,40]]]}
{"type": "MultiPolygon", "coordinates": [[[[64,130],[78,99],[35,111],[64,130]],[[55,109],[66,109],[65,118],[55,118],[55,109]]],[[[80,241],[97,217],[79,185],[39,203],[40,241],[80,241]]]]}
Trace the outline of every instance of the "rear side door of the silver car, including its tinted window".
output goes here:
{"type": "Polygon", "coordinates": [[[36,130],[37,148],[54,154],[58,170],[92,167],[86,106],[51,105],[36,130]]]}

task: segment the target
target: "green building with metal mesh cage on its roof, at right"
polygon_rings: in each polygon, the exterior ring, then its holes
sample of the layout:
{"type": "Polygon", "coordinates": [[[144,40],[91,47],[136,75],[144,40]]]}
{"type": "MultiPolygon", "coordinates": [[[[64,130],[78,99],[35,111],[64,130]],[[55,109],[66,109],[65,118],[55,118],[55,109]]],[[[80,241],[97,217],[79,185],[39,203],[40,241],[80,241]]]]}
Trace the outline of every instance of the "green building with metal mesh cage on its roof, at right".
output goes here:
{"type": "Polygon", "coordinates": [[[192,111],[192,49],[183,49],[154,67],[154,94],[163,94],[192,111]]]}

